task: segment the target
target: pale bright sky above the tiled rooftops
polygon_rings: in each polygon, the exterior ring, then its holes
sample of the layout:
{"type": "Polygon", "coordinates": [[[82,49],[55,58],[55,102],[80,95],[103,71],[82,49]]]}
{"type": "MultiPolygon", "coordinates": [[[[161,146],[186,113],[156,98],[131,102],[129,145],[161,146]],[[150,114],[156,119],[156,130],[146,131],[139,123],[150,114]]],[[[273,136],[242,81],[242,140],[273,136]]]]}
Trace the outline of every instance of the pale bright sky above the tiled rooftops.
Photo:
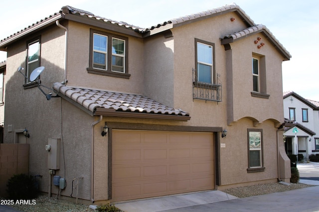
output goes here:
{"type": "MultiPolygon", "coordinates": [[[[256,24],[264,24],[292,55],[290,61],[283,62],[283,90],[319,101],[318,0],[11,0],[1,3],[0,39],[58,12],[64,5],[151,27],[233,2],[256,24]]],[[[0,62],[5,55],[0,51],[0,62]]]]}

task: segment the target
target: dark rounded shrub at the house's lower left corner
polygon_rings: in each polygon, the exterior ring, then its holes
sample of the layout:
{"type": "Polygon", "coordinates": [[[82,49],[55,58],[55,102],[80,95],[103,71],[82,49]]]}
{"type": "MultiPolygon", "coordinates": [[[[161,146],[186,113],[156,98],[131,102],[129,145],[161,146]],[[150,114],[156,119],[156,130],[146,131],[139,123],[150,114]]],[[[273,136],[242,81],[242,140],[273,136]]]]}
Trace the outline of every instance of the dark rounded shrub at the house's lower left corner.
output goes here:
{"type": "Polygon", "coordinates": [[[26,174],[13,175],[6,184],[8,199],[31,200],[36,198],[35,180],[26,174]]]}

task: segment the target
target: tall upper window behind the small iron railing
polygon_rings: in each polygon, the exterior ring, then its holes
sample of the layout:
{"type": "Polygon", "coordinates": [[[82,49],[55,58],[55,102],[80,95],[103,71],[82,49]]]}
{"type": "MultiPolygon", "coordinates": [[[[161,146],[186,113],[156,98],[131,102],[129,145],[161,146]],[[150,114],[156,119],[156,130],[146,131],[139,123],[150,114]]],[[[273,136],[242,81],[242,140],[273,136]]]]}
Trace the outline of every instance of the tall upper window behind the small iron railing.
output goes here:
{"type": "Polygon", "coordinates": [[[214,84],[214,44],[195,39],[197,81],[214,84]]]}

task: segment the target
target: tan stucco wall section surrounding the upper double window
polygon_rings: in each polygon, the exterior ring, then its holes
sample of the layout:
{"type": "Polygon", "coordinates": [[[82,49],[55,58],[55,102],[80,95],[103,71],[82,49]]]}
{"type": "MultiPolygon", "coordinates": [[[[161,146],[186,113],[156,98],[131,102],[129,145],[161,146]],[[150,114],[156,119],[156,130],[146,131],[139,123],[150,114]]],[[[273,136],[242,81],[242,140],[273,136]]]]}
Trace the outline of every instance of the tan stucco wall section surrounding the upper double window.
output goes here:
{"type": "MultiPolygon", "coordinates": [[[[114,33],[97,27],[92,27],[92,29],[114,33]]],[[[129,37],[129,74],[131,76],[130,79],[124,79],[88,73],[90,26],[70,21],[68,31],[68,86],[93,87],[126,93],[143,93],[144,53],[142,39],[117,33],[129,37]]]]}

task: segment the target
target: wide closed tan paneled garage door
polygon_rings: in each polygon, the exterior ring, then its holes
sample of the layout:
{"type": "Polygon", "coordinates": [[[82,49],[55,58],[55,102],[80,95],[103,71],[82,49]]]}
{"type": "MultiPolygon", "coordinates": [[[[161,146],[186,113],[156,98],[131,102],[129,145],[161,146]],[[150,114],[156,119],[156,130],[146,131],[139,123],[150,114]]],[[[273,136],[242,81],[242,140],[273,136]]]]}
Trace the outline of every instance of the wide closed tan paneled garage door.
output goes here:
{"type": "Polygon", "coordinates": [[[214,189],[212,133],[113,130],[112,202],[214,189]]]}

